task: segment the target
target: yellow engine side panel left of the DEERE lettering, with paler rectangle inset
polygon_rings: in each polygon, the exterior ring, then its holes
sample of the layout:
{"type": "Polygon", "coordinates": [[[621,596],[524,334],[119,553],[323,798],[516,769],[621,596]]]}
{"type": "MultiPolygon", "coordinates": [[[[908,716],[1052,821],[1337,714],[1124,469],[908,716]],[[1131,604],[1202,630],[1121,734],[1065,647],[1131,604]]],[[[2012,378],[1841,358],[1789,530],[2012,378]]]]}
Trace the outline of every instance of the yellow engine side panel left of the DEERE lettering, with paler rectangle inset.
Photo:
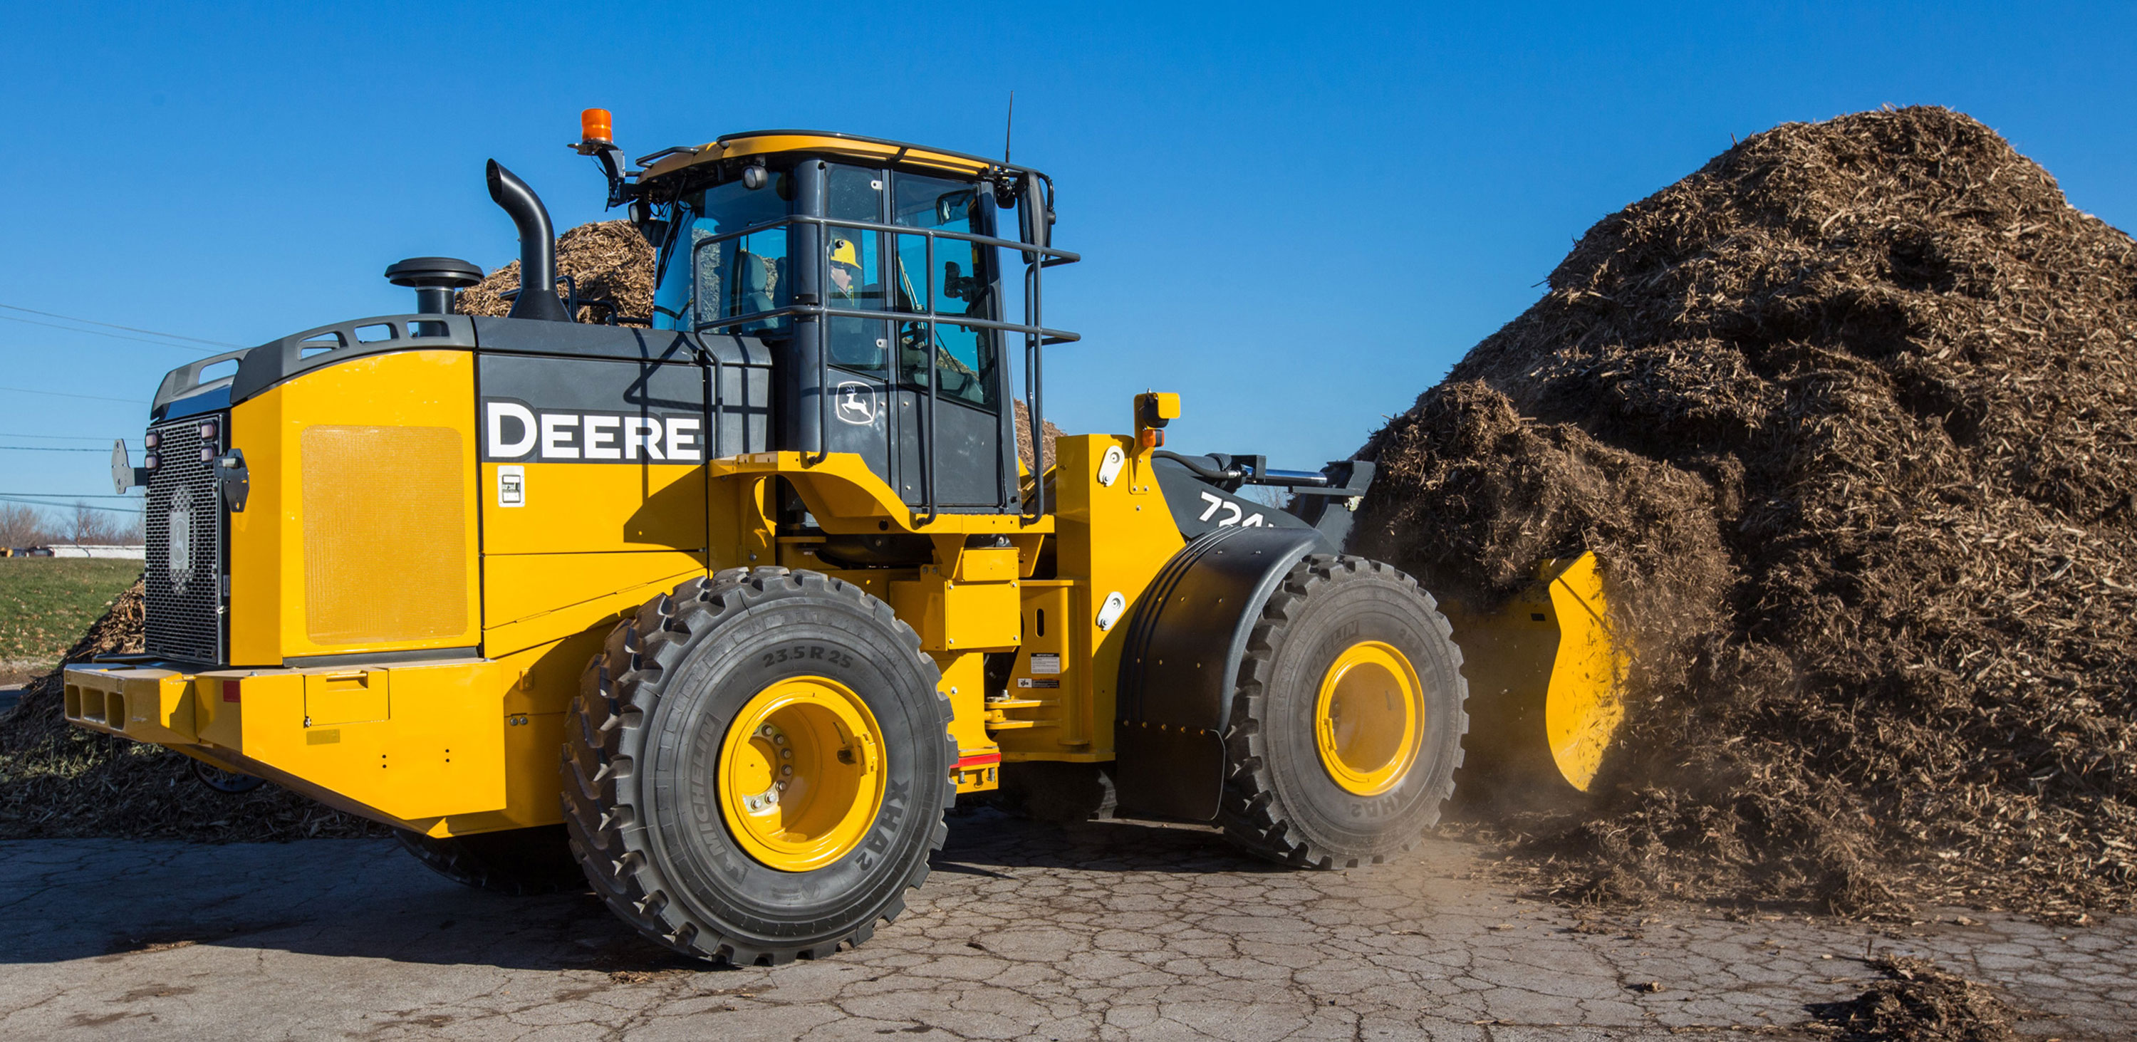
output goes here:
{"type": "Polygon", "coordinates": [[[474,359],[406,350],[306,372],[231,410],[229,658],[472,649],[474,359]]]}

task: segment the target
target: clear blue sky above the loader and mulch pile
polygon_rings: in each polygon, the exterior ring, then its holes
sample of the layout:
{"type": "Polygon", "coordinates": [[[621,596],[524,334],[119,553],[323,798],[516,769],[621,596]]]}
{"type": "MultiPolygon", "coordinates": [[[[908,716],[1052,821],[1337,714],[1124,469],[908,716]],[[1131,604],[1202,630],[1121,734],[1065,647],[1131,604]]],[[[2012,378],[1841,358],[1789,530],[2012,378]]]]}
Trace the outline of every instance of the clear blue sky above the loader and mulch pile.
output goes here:
{"type": "MultiPolygon", "coordinates": [[[[511,260],[485,158],[560,226],[600,218],[562,147],[583,107],[633,156],[767,126],[994,154],[1015,90],[1015,158],[1086,256],[1049,273],[1049,325],[1086,337],[1049,352],[1049,416],[1120,431],[1128,395],[1180,391],[1175,448],[1312,468],[1594,220],[1780,122],[1949,105],[2137,226],[2133,11],[17,4],[0,305],[259,344],[406,310],[402,256],[511,260]]],[[[139,446],[197,357],[0,318],[0,386],[47,391],[0,391],[4,446],[139,446]]],[[[0,451],[4,495],[109,491],[98,453],[0,451]]]]}

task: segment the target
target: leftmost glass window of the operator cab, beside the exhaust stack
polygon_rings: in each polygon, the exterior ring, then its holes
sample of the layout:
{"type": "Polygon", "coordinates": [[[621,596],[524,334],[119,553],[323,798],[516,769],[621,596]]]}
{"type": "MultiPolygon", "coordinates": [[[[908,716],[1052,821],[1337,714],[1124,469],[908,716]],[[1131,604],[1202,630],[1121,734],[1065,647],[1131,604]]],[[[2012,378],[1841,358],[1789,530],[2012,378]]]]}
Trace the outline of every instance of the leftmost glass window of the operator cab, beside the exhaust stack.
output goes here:
{"type": "Polygon", "coordinates": [[[716,329],[722,333],[776,333],[786,318],[716,325],[722,318],[769,312],[789,303],[786,228],[737,233],[780,220],[793,201],[793,181],[778,173],[750,190],[742,181],[688,192],[675,201],[675,224],[660,254],[654,290],[654,329],[716,329]]]}

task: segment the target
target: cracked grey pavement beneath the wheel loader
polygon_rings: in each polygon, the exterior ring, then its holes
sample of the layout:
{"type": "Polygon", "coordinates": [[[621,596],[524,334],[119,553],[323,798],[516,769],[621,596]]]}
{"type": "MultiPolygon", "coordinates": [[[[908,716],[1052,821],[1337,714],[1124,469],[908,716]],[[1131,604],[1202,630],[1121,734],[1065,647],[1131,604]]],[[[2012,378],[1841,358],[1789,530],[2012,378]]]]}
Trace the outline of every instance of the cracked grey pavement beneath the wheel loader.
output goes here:
{"type": "Polygon", "coordinates": [[[1212,828],[977,811],[872,942],[718,969],[588,895],[466,890],[393,841],[6,841],[0,1038],[1808,1038],[1870,950],[1998,986],[2026,1036],[2137,1021],[2133,918],[1592,916],[1477,856],[1289,871],[1212,828]]]}

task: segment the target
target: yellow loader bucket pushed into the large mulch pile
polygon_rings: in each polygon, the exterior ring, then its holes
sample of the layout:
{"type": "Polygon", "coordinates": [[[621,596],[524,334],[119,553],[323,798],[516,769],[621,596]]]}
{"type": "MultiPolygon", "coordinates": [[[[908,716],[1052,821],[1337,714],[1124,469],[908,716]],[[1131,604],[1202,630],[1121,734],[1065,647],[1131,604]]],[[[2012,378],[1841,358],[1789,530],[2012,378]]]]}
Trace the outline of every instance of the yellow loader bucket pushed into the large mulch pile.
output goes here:
{"type": "Polygon", "coordinates": [[[1588,792],[1624,720],[1624,649],[1594,553],[1539,564],[1496,611],[1447,604],[1447,619],[1470,685],[1470,775],[1500,794],[1588,792]]]}

